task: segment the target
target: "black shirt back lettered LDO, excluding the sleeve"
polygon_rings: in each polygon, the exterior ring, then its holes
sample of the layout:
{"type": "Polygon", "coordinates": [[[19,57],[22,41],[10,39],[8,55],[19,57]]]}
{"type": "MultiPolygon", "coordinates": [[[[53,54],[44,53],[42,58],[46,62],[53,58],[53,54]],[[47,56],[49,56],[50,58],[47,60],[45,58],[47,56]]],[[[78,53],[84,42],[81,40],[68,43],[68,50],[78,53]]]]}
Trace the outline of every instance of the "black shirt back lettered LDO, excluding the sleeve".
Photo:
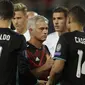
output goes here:
{"type": "Polygon", "coordinates": [[[20,38],[21,35],[12,30],[0,28],[0,85],[15,85],[20,38]]]}

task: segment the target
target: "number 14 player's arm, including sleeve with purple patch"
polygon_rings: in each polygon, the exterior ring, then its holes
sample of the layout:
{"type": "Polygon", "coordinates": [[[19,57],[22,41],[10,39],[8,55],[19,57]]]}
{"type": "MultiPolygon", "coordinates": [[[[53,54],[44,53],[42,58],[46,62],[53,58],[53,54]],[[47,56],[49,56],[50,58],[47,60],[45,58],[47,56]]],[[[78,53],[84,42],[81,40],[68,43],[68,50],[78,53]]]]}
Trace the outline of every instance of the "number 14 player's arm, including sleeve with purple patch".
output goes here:
{"type": "MultiPolygon", "coordinates": [[[[54,65],[52,66],[51,72],[50,72],[50,78],[46,85],[52,85],[53,81],[55,80],[55,75],[57,77],[57,74],[59,74],[65,65],[65,62],[67,60],[67,53],[68,53],[68,43],[66,41],[66,38],[64,35],[61,35],[54,54],[54,65]]],[[[58,76],[59,77],[59,76],[58,76]]],[[[59,79],[59,78],[57,78],[59,79]]]]}

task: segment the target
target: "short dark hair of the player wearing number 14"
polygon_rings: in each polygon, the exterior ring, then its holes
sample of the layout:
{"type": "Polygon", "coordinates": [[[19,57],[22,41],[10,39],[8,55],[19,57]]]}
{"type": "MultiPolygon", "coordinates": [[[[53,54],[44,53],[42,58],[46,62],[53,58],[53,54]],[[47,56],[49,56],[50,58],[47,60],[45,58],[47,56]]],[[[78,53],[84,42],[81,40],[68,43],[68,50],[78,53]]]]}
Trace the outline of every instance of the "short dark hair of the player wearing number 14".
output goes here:
{"type": "Polygon", "coordinates": [[[81,6],[76,5],[72,7],[68,12],[68,15],[69,14],[73,16],[73,20],[82,25],[85,25],[85,10],[81,6]]]}

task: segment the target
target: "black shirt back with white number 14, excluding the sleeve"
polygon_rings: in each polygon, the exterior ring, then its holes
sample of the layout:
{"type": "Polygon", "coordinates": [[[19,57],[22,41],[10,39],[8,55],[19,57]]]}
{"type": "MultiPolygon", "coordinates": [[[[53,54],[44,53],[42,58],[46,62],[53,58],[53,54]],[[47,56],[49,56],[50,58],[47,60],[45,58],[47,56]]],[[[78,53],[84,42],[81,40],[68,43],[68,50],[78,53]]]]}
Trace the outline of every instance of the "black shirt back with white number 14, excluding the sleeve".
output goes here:
{"type": "Polygon", "coordinates": [[[68,45],[64,79],[71,85],[85,85],[85,33],[74,31],[64,37],[68,45]]]}

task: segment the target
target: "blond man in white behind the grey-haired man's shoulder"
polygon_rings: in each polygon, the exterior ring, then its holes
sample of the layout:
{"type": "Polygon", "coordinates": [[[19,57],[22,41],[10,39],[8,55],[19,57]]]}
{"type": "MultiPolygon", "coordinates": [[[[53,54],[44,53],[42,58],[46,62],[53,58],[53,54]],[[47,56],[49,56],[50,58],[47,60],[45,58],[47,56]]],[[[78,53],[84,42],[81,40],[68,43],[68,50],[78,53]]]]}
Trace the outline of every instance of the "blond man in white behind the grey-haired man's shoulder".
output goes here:
{"type": "Polygon", "coordinates": [[[12,19],[15,31],[23,34],[26,38],[26,41],[30,39],[29,30],[27,30],[27,7],[23,3],[14,4],[15,15],[12,19]]]}

